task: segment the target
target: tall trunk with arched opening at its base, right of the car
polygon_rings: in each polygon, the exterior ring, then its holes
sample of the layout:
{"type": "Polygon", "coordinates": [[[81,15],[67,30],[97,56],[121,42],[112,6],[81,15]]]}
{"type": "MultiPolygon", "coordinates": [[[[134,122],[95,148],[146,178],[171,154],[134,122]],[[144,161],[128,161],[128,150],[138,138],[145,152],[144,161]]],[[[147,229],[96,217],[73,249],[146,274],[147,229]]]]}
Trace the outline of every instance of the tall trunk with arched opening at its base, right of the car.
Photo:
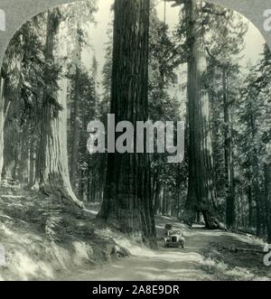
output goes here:
{"type": "Polygon", "coordinates": [[[185,3],[188,22],[189,107],[189,188],[183,213],[184,222],[192,225],[196,213],[202,212],[208,229],[219,229],[216,213],[217,194],[212,178],[212,145],[210,140],[209,97],[206,82],[207,61],[202,40],[197,1],[185,3]]]}

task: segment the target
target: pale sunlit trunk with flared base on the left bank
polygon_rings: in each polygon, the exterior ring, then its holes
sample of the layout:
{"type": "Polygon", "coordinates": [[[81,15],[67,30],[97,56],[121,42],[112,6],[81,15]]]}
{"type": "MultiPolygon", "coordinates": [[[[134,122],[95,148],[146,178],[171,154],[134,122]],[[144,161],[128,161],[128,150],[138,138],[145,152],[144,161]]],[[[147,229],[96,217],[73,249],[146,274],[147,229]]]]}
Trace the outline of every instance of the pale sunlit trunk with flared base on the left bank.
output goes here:
{"type": "MultiPolygon", "coordinates": [[[[47,61],[54,61],[53,50],[59,26],[57,10],[51,10],[48,14],[45,49],[47,61]]],[[[50,74],[45,74],[45,80],[50,78],[50,74]]],[[[44,98],[43,101],[39,156],[40,189],[47,196],[82,208],[82,203],[77,200],[70,186],[67,152],[67,79],[61,79],[59,85],[59,94],[52,94],[51,98],[57,98],[61,109],[52,105],[49,98],[44,98]]],[[[45,81],[45,86],[50,86],[50,82],[45,81]]]]}

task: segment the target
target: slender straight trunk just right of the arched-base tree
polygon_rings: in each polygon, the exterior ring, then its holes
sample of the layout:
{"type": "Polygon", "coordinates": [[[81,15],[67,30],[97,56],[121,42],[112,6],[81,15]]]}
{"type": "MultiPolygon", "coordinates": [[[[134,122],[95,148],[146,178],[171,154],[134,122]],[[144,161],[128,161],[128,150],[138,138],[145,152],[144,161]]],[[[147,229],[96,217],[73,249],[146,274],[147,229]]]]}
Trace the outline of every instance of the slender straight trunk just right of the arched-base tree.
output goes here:
{"type": "Polygon", "coordinates": [[[232,127],[231,127],[231,107],[229,102],[228,71],[224,68],[222,74],[223,102],[224,102],[224,151],[225,151],[225,181],[227,187],[226,198],[226,224],[228,227],[236,225],[236,207],[234,190],[234,167],[232,156],[232,127]]]}

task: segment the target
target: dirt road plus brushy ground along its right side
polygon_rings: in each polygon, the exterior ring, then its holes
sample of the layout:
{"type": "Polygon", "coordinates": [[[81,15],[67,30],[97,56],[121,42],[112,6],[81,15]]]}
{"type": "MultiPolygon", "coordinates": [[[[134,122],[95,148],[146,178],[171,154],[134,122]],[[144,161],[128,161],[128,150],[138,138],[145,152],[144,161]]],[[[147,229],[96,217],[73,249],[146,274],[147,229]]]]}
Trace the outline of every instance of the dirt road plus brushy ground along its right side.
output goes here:
{"type": "Polygon", "coordinates": [[[207,230],[201,226],[186,229],[178,221],[158,216],[156,229],[160,246],[157,250],[138,247],[125,239],[117,243],[127,248],[131,257],[79,271],[68,280],[101,281],[213,281],[271,280],[271,268],[264,266],[264,243],[253,236],[207,230]],[[186,246],[164,248],[164,224],[182,229],[186,246]],[[243,251],[244,250],[244,251],[243,251]],[[248,250],[248,252],[247,252],[248,250]]]}

